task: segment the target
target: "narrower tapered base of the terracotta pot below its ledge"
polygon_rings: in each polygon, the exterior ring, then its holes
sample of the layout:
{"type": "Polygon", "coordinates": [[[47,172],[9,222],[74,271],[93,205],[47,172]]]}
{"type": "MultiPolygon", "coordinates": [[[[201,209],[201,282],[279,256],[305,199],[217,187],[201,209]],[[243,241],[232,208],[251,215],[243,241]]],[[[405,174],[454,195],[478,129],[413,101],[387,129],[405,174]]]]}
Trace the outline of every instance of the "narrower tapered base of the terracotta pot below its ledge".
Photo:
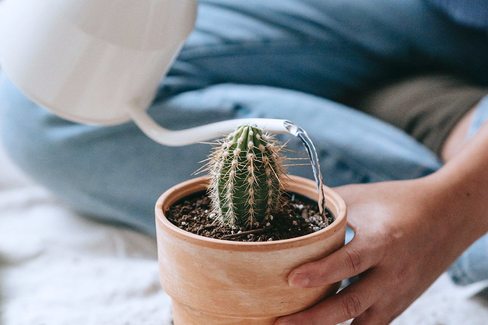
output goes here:
{"type": "Polygon", "coordinates": [[[193,310],[174,300],[173,324],[174,325],[274,325],[277,317],[271,318],[235,318],[220,315],[212,315],[193,310]]]}

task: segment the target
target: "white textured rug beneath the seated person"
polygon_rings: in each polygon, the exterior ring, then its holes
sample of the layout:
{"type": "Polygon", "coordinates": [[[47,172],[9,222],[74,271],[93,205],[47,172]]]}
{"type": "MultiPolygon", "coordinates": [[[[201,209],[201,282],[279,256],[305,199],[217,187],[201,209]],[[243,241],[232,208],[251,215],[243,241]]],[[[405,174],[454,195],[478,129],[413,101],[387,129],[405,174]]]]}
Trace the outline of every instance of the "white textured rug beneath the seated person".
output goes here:
{"type": "MultiPolygon", "coordinates": [[[[171,323],[154,238],[76,215],[1,155],[0,276],[3,325],[171,323]]],[[[481,288],[444,275],[394,325],[487,325],[481,288]]]]}

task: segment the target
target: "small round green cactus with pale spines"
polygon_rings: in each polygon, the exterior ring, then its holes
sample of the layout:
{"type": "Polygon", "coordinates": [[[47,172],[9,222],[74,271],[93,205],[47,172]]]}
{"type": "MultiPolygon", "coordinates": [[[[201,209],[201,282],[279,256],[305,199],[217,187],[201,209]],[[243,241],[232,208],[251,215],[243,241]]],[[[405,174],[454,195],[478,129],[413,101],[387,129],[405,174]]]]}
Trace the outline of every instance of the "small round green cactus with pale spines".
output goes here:
{"type": "Polygon", "coordinates": [[[251,124],[237,127],[218,144],[207,164],[213,212],[232,227],[267,224],[282,203],[284,145],[251,124]]]}

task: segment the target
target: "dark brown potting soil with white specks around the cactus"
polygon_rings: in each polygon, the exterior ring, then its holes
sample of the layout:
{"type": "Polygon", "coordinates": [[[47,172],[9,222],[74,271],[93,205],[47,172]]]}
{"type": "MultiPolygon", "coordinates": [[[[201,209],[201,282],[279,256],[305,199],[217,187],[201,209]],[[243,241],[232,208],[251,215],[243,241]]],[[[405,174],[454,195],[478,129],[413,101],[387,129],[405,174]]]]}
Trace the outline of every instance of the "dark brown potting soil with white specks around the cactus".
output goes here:
{"type": "Polygon", "coordinates": [[[166,211],[166,218],[175,226],[197,235],[242,242],[264,242],[289,239],[307,235],[324,229],[333,221],[330,211],[325,212],[323,222],[318,214],[317,202],[305,196],[286,193],[280,213],[273,220],[266,220],[260,227],[252,230],[221,225],[212,213],[210,198],[199,192],[173,204],[166,211]]]}

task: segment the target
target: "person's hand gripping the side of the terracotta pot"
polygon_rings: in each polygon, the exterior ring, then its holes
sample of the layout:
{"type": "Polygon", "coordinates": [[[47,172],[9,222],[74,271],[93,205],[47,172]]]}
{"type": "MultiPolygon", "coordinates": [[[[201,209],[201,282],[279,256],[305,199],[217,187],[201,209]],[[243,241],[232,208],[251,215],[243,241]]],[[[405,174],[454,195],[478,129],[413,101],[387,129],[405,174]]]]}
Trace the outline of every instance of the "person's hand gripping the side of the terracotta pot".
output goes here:
{"type": "MultiPolygon", "coordinates": [[[[418,298],[483,232],[461,215],[463,197],[439,177],[347,185],[343,196],[355,231],[345,247],[288,275],[292,287],[359,280],[276,325],[387,325],[418,298]]],[[[478,227],[479,228],[479,227],[478,227]]]]}

